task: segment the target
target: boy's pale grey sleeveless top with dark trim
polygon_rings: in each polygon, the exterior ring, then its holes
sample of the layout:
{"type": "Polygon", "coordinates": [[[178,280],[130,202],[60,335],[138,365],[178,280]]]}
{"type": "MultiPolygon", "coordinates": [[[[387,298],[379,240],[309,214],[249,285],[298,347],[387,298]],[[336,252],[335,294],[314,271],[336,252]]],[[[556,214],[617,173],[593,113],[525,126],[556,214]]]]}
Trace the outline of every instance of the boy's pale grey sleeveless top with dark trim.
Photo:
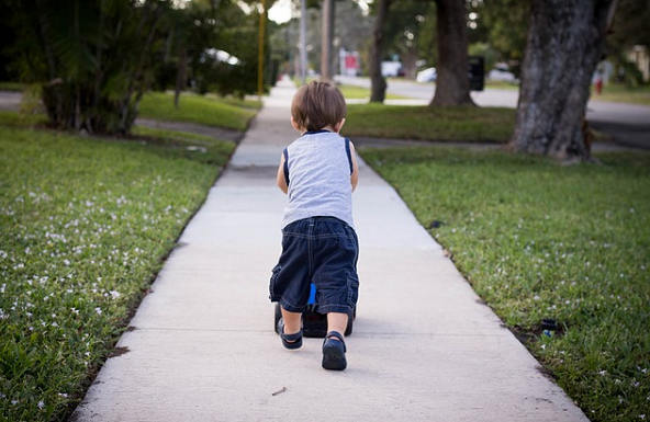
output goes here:
{"type": "Polygon", "coordinates": [[[284,149],[289,204],[282,227],[310,217],[352,220],[352,159],[349,139],[321,130],[307,132],[284,149]]]}

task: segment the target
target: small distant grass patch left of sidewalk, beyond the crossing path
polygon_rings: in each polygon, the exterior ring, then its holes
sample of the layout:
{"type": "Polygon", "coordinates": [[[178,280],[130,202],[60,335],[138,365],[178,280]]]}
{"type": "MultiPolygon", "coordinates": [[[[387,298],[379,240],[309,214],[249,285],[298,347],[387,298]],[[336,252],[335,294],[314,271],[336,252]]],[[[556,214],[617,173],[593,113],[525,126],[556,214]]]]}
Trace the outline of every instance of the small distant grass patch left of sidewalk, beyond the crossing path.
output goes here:
{"type": "Polygon", "coordinates": [[[239,101],[183,93],[180,106],[175,109],[173,94],[149,92],[139,104],[139,117],[159,121],[198,123],[209,126],[246,130],[261,104],[257,101],[239,101]]]}

